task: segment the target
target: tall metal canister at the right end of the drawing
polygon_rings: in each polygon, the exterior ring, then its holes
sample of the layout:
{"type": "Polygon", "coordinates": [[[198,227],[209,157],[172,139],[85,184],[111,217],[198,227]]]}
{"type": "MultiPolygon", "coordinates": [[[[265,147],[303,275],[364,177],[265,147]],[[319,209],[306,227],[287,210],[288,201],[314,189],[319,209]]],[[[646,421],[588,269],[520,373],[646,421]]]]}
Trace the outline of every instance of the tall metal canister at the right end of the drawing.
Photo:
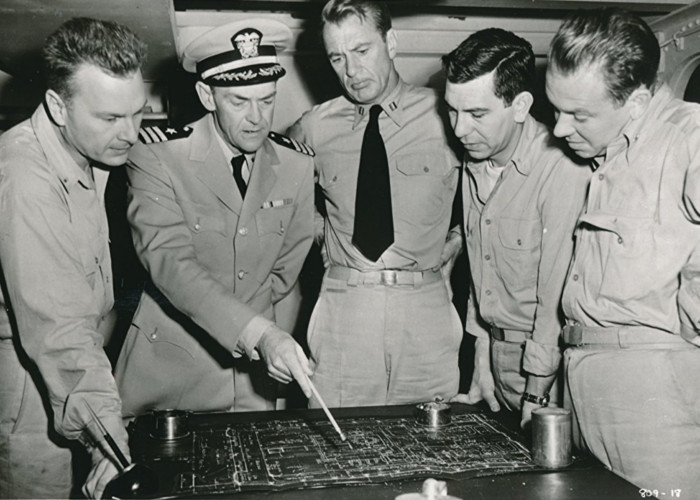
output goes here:
{"type": "Polygon", "coordinates": [[[538,408],[532,412],[532,459],[540,467],[570,465],[571,412],[564,408],[538,408]]]}

